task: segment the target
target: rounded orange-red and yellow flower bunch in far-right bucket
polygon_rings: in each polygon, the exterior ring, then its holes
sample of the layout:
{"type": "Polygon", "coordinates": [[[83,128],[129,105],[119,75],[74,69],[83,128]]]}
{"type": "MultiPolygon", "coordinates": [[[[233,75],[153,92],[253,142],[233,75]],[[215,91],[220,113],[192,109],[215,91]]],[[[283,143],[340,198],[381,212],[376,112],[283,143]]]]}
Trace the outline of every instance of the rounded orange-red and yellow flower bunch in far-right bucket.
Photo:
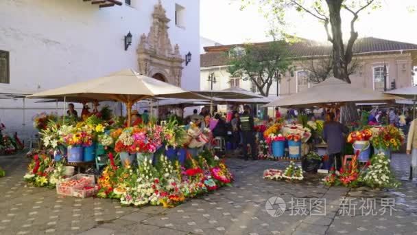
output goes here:
{"type": "Polygon", "coordinates": [[[393,125],[371,128],[372,138],[370,142],[376,149],[399,150],[404,141],[404,134],[393,125]]]}

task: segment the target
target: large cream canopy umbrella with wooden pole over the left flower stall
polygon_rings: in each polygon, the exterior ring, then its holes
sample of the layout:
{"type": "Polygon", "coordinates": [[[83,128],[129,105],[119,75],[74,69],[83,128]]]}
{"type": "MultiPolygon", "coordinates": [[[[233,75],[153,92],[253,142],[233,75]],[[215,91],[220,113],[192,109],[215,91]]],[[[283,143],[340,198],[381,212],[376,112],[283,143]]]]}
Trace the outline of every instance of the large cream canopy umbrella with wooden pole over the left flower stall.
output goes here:
{"type": "Polygon", "coordinates": [[[201,96],[166,82],[143,76],[133,69],[124,69],[114,74],[86,82],[35,93],[28,98],[80,98],[97,101],[113,100],[126,104],[128,124],[132,104],[152,97],[198,99],[201,96]]]}

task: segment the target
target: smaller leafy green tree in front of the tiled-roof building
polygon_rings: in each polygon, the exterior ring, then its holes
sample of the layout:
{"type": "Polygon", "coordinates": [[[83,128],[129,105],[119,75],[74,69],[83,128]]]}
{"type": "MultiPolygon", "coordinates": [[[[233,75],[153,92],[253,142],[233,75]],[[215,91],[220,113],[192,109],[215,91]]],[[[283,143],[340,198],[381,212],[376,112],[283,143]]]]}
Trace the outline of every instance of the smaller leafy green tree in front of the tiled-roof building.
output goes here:
{"type": "Polygon", "coordinates": [[[269,96],[274,82],[281,79],[291,67],[291,60],[284,41],[246,44],[235,47],[228,53],[228,72],[231,76],[250,80],[262,96],[269,96]]]}

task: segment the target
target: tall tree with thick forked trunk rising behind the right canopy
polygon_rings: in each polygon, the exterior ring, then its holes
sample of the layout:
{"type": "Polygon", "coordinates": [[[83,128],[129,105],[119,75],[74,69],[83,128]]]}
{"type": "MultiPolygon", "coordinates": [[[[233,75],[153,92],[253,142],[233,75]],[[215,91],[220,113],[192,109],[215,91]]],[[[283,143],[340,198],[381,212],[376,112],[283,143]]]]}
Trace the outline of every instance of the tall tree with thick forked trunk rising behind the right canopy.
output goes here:
{"type": "MultiPolygon", "coordinates": [[[[263,8],[267,16],[275,19],[276,23],[285,25],[287,10],[296,10],[309,14],[324,25],[327,40],[332,44],[331,61],[335,78],[350,83],[349,64],[353,58],[353,45],[358,38],[355,23],[359,14],[364,10],[378,8],[381,0],[241,0],[243,6],[250,2],[258,2],[266,6],[263,8]],[[342,34],[342,10],[352,15],[350,19],[350,36],[345,42],[342,34]]],[[[353,104],[348,106],[349,117],[346,121],[357,119],[357,112],[353,104]]]]}

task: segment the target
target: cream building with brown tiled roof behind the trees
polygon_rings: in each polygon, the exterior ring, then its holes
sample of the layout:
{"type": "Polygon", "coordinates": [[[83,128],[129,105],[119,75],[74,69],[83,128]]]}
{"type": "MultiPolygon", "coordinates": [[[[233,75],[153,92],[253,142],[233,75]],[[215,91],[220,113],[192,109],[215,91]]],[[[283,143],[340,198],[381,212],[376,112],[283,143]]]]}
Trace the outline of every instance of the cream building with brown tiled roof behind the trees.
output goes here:
{"type": "MultiPolygon", "coordinates": [[[[255,43],[265,45],[266,43],[255,43]]],[[[243,44],[220,45],[204,47],[205,53],[200,55],[201,65],[201,89],[209,89],[208,75],[215,73],[216,83],[213,89],[226,89],[230,86],[237,86],[243,89],[252,89],[254,86],[249,80],[231,78],[227,72],[228,51],[233,48],[244,47],[243,44]]],[[[294,57],[293,65],[296,67],[294,73],[285,73],[276,85],[272,85],[270,96],[285,96],[297,93],[302,89],[308,89],[311,83],[308,79],[308,71],[305,61],[316,63],[320,58],[331,54],[329,43],[318,43],[315,41],[299,38],[294,43],[287,43],[287,49],[291,57],[294,57]],[[303,61],[303,62],[301,62],[303,61]]],[[[383,66],[387,67],[387,87],[392,82],[396,88],[413,85],[413,67],[417,65],[417,45],[398,41],[390,41],[381,38],[367,37],[359,38],[355,42],[353,52],[358,66],[355,74],[350,76],[353,84],[368,89],[382,91],[383,66]]]]}

